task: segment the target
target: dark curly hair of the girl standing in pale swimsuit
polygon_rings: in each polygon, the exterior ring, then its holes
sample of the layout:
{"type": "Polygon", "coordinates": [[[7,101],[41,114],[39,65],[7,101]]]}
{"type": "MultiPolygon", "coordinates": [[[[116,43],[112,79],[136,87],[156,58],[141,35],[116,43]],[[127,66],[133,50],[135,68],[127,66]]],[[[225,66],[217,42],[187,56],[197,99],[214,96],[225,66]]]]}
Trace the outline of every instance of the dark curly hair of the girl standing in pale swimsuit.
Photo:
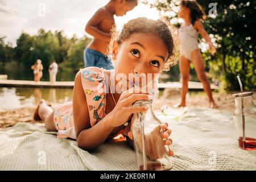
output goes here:
{"type": "Polygon", "coordinates": [[[203,8],[196,1],[183,0],[180,4],[190,10],[192,24],[195,24],[196,20],[206,18],[203,8]]]}

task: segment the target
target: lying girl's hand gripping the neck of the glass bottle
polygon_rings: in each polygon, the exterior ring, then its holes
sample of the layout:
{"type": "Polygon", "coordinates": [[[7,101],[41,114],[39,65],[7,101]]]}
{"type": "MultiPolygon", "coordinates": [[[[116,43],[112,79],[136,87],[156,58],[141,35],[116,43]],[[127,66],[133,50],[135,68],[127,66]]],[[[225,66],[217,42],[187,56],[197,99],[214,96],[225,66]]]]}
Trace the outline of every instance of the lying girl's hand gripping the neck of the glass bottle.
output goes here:
{"type": "Polygon", "coordinates": [[[135,86],[129,90],[126,90],[121,94],[117,105],[108,114],[110,119],[110,126],[118,127],[123,125],[131,114],[138,112],[146,112],[148,107],[144,106],[133,106],[133,103],[137,100],[150,100],[152,94],[142,90],[138,86],[135,86]]]}

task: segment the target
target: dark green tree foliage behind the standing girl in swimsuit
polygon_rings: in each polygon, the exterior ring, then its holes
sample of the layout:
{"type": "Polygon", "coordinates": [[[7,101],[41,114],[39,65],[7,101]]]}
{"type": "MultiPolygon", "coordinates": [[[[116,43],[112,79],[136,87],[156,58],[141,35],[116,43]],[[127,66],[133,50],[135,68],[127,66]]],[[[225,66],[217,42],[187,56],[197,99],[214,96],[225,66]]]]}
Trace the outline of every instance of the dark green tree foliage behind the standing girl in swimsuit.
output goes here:
{"type": "MultiPolygon", "coordinates": [[[[255,9],[256,1],[249,0],[197,0],[205,10],[208,18],[204,20],[204,27],[208,34],[212,34],[217,47],[217,53],[211,56],[204,52],[206,69],[212,77],[222,80],[224,89],[239,89],[237,75],[242,78],[245,90],[256,88],[256,32],[255,9]],[[217,7],[216,15],[209,15],[210,3],[217,7]]],[[[150,4],[166,16],[174,26],[180,24],[177,19],[179,0],[156,0],[150,4]]],[[[200,39],[200,42],[203,40],[200,39]]]]}

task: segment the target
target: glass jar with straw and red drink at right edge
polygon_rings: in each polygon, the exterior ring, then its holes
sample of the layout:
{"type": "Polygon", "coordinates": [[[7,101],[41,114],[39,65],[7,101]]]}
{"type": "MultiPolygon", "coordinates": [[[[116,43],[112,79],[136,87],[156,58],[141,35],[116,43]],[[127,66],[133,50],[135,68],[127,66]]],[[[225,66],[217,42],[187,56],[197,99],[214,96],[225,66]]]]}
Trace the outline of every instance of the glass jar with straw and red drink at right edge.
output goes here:
{"type": "Polygon", "coordinates": [[[244,150],[256,150],[256,110],[253,92],[242,92],[233,96],[236,104],[234,125],[238,146],[244,150]]]}

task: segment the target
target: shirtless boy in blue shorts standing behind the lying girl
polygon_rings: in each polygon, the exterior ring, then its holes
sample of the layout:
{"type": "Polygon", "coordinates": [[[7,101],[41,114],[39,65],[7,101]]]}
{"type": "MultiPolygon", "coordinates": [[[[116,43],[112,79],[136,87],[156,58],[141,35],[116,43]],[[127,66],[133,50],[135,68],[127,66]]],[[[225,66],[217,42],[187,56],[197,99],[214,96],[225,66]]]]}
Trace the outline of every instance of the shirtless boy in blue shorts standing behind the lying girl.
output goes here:
{"type": "Polygon", "coordinates": [[[84,50],[85,67],[114,69],[112,60],[106,55],[111,39],[110,30],[115,24],[114,15],[123,16],[137,5],[137,0],[111,0],[92,16],[85,27],[85,31],[93,36],[92,42],[84,50]]]}

